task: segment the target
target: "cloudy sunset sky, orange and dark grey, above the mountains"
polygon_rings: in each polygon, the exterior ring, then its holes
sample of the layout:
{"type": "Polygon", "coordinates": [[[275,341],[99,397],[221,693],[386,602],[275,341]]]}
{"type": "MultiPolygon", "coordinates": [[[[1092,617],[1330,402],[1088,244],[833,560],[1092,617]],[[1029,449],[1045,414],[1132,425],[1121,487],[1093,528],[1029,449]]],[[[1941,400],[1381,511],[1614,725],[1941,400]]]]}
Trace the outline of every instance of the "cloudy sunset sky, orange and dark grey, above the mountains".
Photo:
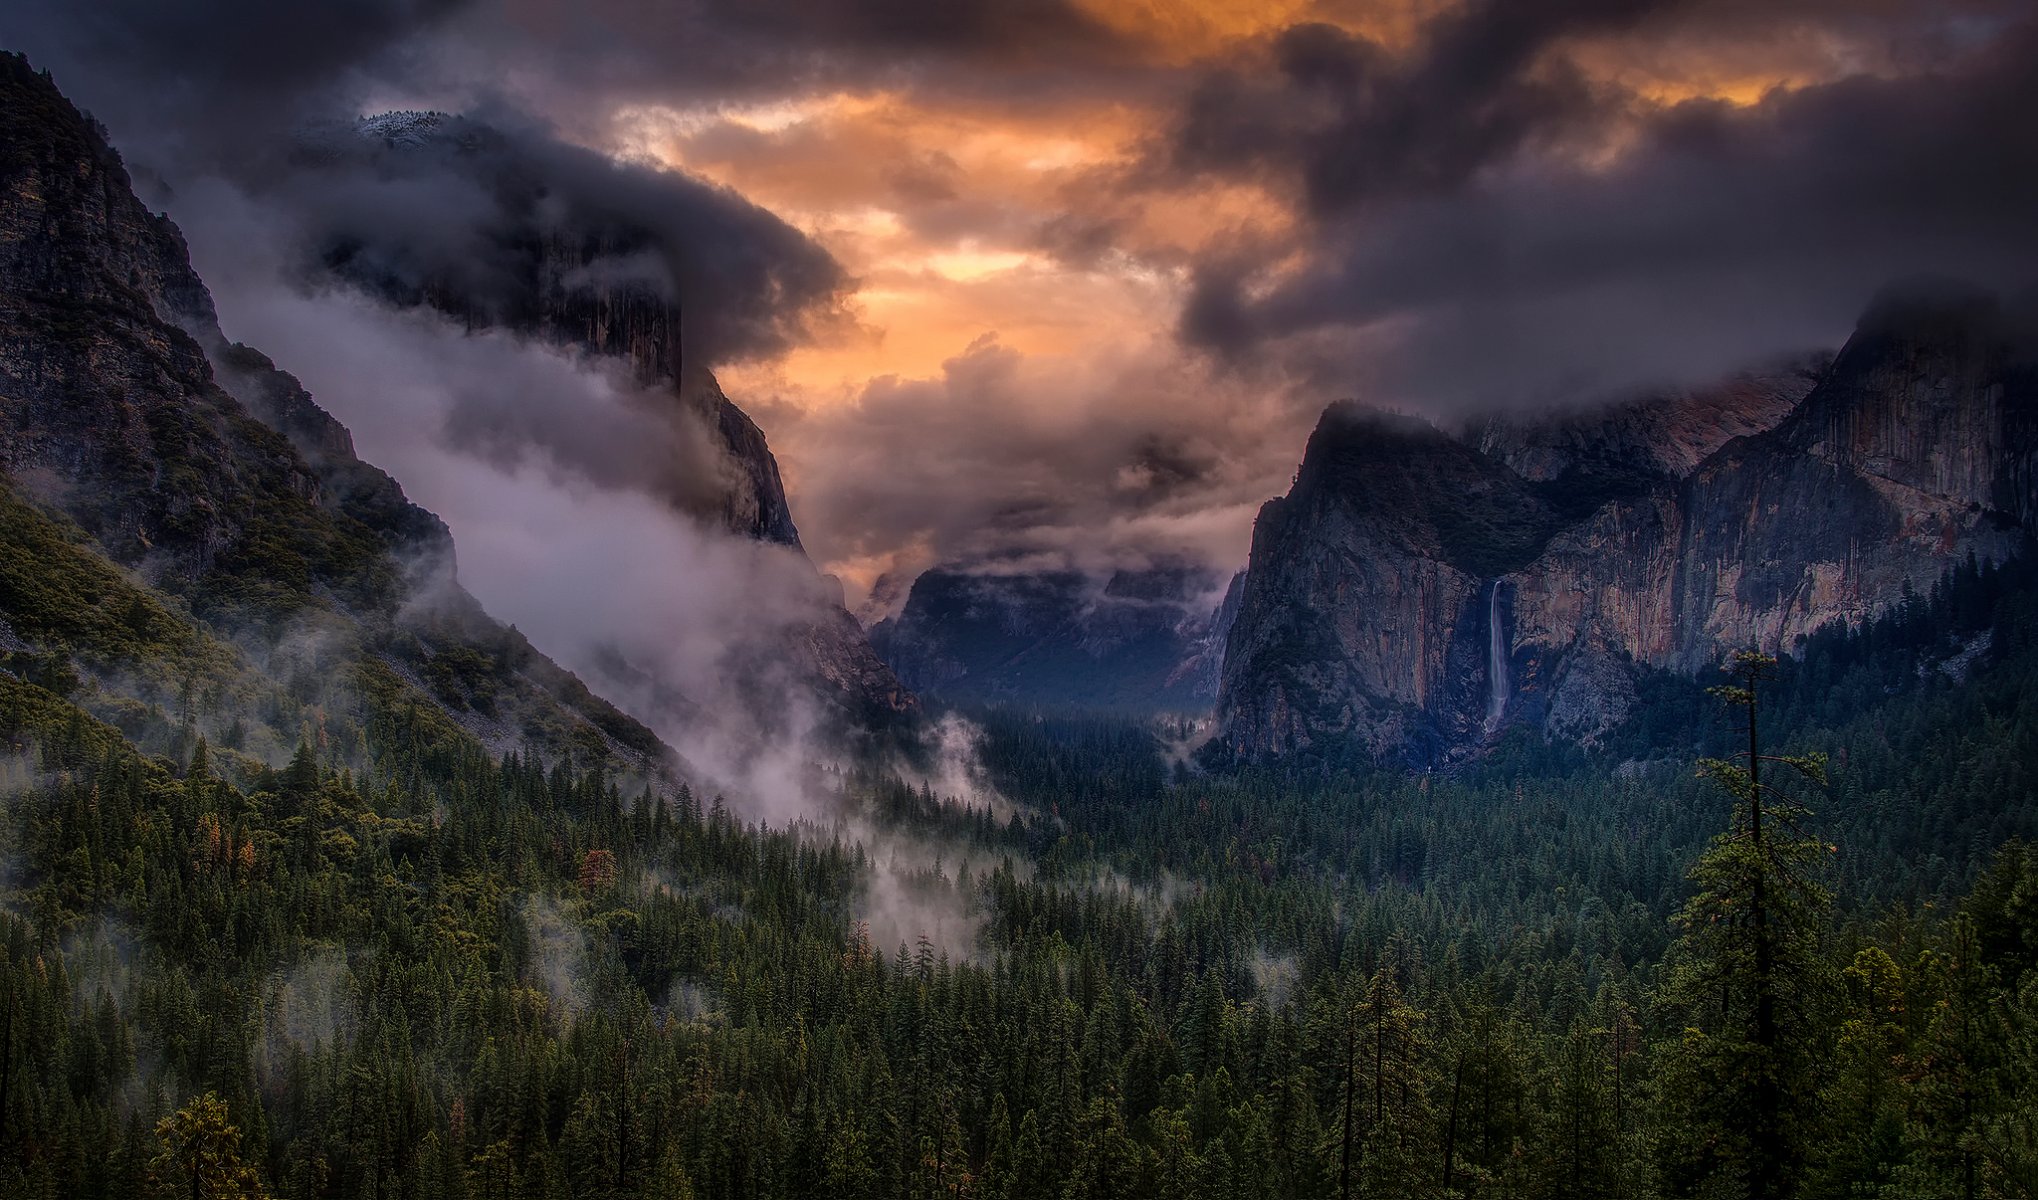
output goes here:
{"type": "MultiPolygon", "coordinates": [[[[416,414],[346,403],[371,373],[314,354],[363,320],[277,302],[287,253],[249,263],[234,222],[287,212],[281,244],[371,214],[454,255],[473,196],[293,185],[304,128],[467,112],[671,214],[689,346],[856,603],[933,562],[1229,572],[1341,397],[1577,405],[1832,348],[1908,275],[2038,283],[2034,8],[22,0],[0,43],[210,230],[228,334],[316,359],[365,446],[416,414]]],[[[432,471],[397,477],[487,507],[432,471]]]]}

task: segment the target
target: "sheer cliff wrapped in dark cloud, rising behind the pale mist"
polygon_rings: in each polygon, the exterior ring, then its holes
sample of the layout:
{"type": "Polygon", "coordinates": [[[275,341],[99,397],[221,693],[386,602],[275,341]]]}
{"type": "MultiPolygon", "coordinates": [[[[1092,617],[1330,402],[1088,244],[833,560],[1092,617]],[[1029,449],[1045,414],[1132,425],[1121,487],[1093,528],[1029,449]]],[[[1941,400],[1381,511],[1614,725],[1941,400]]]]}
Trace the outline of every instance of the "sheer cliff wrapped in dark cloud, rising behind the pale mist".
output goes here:
{"type": "MultiPolygon", "coordinates": [[[[717,312],[713,295],[683,312],[683,271],[673,261],[683,251],[668,226],[687,214],[662,208],[671,198],[599,155],[442,112],[308,130],[293,155],[314,185],[367,173],[483,214],[463,228],[459,253],[430,244],[436,226],[420,232],[406,212],[338,220],[314,247],[314,275],[620,367],[634,401],[671,428],[666,460],[638,483],[689,517],[803,554],[764,432],[689,342],[726,340],[732,334],[717,328],[740,318],[717,312]]],[[[817,570],[811,585],[840,591],[817,570]]],[[[813,609],[774,650],[791,650],[807,683],[852,723],[911,713],[913,695],[840,597],[813,609]]]]}

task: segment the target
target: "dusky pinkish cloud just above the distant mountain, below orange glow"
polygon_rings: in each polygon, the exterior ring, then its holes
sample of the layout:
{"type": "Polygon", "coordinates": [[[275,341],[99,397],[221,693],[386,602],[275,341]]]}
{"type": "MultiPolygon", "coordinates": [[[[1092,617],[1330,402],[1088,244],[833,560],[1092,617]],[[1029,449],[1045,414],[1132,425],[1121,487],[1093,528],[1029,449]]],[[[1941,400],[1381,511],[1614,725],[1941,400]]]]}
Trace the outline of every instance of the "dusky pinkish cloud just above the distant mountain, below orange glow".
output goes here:
{"type": "Polygon", "coordinates": [[[940,375],[878,377],[850,403],[766,418],[809,542],[856,585],[933,562],[1107,575],[1186,556],[1229,570],[1268,471],[1288,471],[1308,432],[1278,389],[1164,340],[1058,359],[997,334],[940,375]]]}

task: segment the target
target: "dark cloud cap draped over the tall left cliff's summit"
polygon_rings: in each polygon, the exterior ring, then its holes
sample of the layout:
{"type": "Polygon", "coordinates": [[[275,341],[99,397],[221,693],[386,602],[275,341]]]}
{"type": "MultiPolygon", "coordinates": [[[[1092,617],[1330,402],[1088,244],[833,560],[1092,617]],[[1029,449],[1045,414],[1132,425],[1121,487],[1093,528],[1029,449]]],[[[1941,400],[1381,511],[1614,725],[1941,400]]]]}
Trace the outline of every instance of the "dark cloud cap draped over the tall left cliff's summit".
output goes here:
{"type": "Polygon", "coordinates": [[[687,365],[785,350],[848,283],[823,249],[726,187],[520,124],[332,126],[255,187],[300,216],[308,261],[377,295],[573,338],[587,334],[548,326],[673,310],[687,365]]]}

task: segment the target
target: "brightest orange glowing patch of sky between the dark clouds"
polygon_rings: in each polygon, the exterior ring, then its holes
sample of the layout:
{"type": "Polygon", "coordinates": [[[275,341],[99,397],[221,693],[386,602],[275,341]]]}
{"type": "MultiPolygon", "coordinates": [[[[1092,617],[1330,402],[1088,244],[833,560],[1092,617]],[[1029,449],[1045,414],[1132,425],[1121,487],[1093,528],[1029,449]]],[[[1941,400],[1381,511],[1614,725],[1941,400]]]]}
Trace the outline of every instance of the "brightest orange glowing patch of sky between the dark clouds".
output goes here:
{"type": "MultiPolygon", "coordinates": [[[[719,112],[618,114],[615,149],[681,167],[764,204],[856,277],[856,326],[768,369],[726,371],[732,391],[840,403],[872,377],[937,375],[986,332],[1025,354],[1082,354],[1127,328],[1166,328],[1180,277],[1137,257],[1072,265],[1041,230],[1068,187],[1129,161],[1141,114],[1119,106],[1009,114],[923,108],[903,96],[825,96],[719,112]]],[[[1131,240],[1192,247],[1223,222],[1274,218],[1241,189],[1196,208],[1162,200],[1131,240]],[[1200,224],[1200,228],[1198,228],[1200,224]]]]}

